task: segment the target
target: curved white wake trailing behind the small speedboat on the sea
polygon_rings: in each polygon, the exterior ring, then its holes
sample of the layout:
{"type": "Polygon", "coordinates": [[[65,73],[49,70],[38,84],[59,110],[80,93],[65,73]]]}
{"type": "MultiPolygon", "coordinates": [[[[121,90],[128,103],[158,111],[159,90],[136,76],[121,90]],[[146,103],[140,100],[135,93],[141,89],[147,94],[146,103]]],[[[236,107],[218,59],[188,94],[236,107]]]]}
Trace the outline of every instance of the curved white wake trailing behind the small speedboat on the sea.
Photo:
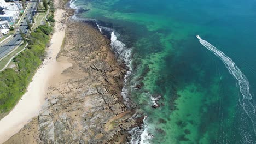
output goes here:
{"type": "Polygon", "coordinates": [[[254,135],[256,135],[256,114],[255,114],[255,107],[251,103],[252,95],[249,93],[249,81],[247,80],[246,76],[243,75],[241,70],[236,66],[236,64],[232,61],[231,58],[226,56],[222,51],[218,50],[216,47],[208,43],[207,41],[201,39],[199,35],[196,35],[196,37],[199,39],[199,42],[205,46],[208,50],[214,53],[217,57],[219,57],[225,64],[226,68],[228,68],[229,73],[235,77],[235,79],[238,81],[239,89],[241,94],[243,95],[243,99],[241,101],[241,106],[243,107],[243,110],[248,115],[248,117],[251,119],[251,122],[253,124],[253,130],[254,135]]]}

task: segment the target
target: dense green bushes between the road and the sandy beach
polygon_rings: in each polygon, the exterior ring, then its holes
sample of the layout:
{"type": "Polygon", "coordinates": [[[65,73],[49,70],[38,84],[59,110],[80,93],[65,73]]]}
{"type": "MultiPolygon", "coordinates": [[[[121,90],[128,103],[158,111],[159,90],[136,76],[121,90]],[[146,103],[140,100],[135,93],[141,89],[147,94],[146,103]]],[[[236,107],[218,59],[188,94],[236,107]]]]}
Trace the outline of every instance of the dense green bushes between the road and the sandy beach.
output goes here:
{"type": "Polygon", "coordinates": [[[0,73],[0,113],[11,110],[25,93],[28,83],[42,63],[52,30],[49,26],[36,28],[27,38],[28,49],[14,58],[18,67],[0,73]]]}

